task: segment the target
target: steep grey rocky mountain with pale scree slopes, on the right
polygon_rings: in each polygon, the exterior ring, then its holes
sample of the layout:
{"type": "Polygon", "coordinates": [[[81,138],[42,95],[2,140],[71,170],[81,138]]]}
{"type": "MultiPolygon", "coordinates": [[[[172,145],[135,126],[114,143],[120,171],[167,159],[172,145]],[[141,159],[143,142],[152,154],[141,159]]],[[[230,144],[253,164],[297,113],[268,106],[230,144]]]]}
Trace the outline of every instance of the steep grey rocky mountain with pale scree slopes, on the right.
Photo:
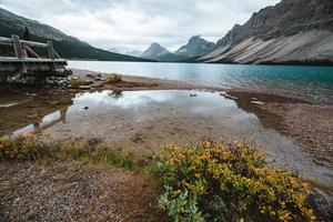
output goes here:
{"type": "Polygon", "coordinates": [[[198,61],[333,63],[333,1],[282,0],[235,24],[198,61]]]}

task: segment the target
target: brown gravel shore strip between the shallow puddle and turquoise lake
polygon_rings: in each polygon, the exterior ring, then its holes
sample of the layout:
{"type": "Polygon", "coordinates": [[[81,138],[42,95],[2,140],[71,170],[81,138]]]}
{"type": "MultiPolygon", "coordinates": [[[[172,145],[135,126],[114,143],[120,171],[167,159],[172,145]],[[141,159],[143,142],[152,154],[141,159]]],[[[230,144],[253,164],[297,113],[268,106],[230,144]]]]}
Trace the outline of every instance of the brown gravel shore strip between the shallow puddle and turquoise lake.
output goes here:
{"type": "MultiPolygon", "coordinates": [[[[81,78],[94,73],[87,70],[73,70],[73,72],[81,78]]],[[[124,82],[134,84],[109,84],[101,90],[205,90],[219,92],[226,99],[234,100],[241,109],[255,113],[265,128],[290,137],[303,151],[312,155],[316,164],[333,169],[333,127],[331,127],[333,125],[333,105],[331,104],[253,90],[224,89],[175,80],[120,75],[124,82]],[[135,85],[135,82],[143,85],[135,85]]]]}

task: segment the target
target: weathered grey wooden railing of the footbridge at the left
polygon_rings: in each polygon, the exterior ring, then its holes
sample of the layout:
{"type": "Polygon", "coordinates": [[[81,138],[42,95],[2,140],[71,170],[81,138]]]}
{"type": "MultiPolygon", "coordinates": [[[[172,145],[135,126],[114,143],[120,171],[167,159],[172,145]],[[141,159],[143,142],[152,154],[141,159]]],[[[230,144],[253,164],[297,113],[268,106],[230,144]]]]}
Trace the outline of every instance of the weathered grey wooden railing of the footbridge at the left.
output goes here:
{"type": "Polygon", "coordinates": [[[16,34],[11,38],[0,37],[0,44],[13,47],[16,57],[0,57],[0,71],[19,71],[27,73],[28,68],[31,70],[56,71],[58,67],[63,68],[67,61],[61,59],[56,52],[52,41],[47,43],[20,40],[16,34]],[[48,51],[48,58],[40,57],[33,49],[43,48],[48,51]]]}

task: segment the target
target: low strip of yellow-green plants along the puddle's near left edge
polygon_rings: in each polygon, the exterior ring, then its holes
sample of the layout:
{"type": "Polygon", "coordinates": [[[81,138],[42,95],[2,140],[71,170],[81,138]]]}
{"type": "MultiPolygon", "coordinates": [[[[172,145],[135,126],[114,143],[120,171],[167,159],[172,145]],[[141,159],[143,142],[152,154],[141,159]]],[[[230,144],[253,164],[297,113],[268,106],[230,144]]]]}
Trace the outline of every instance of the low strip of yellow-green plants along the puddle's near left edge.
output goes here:
{"type": "Polygon", "coordinates": [[[117,151],[102,143],[47,144],[36,134],[0,139],[0,159],[6,161],[75,160],[83,163],[104,163],[127,170],[134,169],[137,164],[131,154],[117,151]]]}

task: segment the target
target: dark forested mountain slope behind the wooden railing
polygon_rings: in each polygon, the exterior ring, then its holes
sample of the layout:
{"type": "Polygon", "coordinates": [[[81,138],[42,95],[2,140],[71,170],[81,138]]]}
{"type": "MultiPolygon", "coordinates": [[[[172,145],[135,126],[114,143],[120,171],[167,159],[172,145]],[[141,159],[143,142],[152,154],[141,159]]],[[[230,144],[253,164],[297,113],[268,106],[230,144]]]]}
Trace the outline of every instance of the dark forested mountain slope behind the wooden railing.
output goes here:
{"type": "MultiPolygon", "coordinates": [[[[65,33],[38,21],[30,20],[0,8],[0,36],[10,38],[11,34],[23,36],[26,27],[31,41],[46,42],[52,40],[56,51],[68,59],[108,60],[108,61],[147,61],[141,58],[112,53],[97,49],[87,42],[67,36],[65,33]]],[[[1,50],[3,51],[3,50],[1,50]]],[[[38,51],[41,52],[42,51],[38,51]]],[[[3,53],[3,52],[2,52],[3,53]]]]}

